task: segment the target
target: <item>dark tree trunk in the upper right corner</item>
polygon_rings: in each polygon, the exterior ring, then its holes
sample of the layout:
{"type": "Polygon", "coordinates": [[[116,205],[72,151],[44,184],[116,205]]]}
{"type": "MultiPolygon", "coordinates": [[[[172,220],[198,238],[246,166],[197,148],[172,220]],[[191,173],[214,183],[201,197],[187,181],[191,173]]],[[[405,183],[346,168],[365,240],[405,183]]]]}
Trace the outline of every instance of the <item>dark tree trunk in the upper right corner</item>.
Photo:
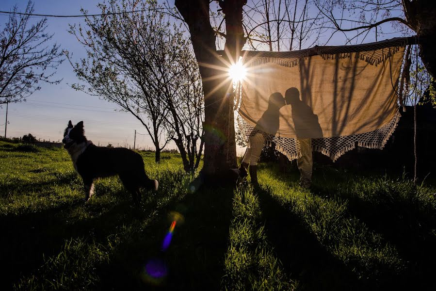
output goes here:
{"type": "Polygon", "coordinates": [[[436,78],[436,5],[434,0],[403,0],[404,16],[413,30],[421,37],[420,55],[427,71],[436,78]]]}

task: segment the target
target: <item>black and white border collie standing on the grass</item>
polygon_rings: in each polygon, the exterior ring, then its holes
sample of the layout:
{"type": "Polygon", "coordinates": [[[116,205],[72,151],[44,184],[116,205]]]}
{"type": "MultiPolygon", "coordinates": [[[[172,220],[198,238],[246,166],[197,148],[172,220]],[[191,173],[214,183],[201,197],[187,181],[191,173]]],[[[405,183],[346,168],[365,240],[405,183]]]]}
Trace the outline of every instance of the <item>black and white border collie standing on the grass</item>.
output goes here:
{"type": "Polygon", "coordinates": [[[74,169],[83,179],[85,201],[94,193],[94,179],[115,175],[120,177],[124,187],[132,194],[136,205],[141,202],[140,187],[158,190],[158,181],[145,174],[140,154],[124,147],[95,146],[85,137],[83,121],[74,127],[71,120],[68,122],[62,143],[71,156],[74,169]]]}

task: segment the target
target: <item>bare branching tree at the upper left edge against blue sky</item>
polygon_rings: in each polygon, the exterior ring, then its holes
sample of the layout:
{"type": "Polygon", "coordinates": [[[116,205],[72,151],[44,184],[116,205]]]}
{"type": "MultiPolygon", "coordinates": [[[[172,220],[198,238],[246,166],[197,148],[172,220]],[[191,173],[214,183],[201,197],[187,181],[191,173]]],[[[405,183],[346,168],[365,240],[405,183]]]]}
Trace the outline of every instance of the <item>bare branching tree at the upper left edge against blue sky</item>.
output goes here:
{"type": "Polygon", "coordinates": [[[56,69],[63,61],[60,46],[48,44],[53,34],[44,33],[47,18],[32,23],[32,1],[24,14],[17,14],[17,6],[12,12],[0,32],[0,104],[25,101],[41,89],[41,81],[61,81],[52,80],[55,71],[47,70],[56,69]]]}

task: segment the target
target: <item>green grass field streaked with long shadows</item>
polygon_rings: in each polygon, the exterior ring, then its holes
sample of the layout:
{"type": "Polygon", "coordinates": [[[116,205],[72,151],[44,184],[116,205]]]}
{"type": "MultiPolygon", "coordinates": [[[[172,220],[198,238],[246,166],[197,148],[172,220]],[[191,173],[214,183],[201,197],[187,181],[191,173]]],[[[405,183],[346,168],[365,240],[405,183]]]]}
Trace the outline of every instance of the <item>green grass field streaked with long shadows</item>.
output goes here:
{"type": "Polygon", "coordinates": [[[105,178],[85,204],[65,150],[0,141],[0,290],[436,290],[434,186],[318,166],[308,191],[271,163],[190,194],[177,155],[141,154],[158,192],[105,178]]]}

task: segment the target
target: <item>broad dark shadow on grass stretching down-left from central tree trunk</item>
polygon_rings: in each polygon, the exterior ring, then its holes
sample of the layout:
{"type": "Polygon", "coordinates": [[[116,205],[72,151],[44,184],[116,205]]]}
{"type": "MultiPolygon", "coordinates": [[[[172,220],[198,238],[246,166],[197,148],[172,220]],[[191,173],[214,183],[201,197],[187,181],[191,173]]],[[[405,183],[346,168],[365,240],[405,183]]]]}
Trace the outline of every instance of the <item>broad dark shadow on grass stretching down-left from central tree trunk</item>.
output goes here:
{"type": "MultiPolygon", "coordinates": [[[[204,187],[203,187],[204,188],[204,187]]],[[[219,290],[232,214],[232,189],[201,189],[186,194],[160,210],[158,222],[146,227],[117,250],[115,259],[100,272],[102,290],[219,290]],[[172,242],[162,242],[177,211],[184,217],[172,242]],[[166,276],[145,272],[151,261],[163,262],[166,276]]]]}

